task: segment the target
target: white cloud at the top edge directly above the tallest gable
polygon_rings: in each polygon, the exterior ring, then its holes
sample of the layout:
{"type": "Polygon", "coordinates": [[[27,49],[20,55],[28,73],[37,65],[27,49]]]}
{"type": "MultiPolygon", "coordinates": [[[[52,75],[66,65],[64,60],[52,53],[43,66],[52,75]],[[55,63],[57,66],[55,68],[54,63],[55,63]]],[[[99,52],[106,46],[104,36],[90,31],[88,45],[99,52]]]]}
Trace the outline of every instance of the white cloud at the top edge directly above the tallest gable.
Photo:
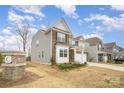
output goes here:
{"type": "Polygon", "coordinates": [[[61,9],[69,17],[74,19],[79,18],[79,15],[76,13],[76,6],[74,5],[57,5],[55,7],[61,9]]]}

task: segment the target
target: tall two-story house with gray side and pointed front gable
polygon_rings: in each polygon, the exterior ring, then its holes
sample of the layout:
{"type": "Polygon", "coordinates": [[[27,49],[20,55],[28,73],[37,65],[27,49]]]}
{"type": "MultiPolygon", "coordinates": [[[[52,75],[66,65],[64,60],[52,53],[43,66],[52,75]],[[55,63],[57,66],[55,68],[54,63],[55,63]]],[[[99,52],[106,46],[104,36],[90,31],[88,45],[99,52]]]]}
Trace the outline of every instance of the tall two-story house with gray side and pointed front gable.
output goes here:
{"type": "Polygon", "coordinates": [[[31,60],[68,63],[71,38],[72,33],[63,18],[47,30],[38,31],[31,43],[31,60]]]}

